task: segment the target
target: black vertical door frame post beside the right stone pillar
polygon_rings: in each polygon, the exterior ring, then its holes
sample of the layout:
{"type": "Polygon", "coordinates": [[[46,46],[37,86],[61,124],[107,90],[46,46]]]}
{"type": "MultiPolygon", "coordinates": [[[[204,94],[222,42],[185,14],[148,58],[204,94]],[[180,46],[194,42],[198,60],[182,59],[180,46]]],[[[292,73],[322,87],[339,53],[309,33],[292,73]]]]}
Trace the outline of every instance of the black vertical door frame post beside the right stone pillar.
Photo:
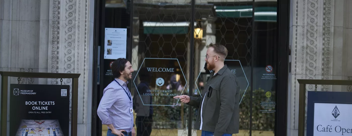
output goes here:
{"type": "Polygon", "coordinates": [[[287,135],[287,95],[289,62],[289,17],[290,0],[278,0],[278,79],[275,112],[275,136],[287,135]]]}

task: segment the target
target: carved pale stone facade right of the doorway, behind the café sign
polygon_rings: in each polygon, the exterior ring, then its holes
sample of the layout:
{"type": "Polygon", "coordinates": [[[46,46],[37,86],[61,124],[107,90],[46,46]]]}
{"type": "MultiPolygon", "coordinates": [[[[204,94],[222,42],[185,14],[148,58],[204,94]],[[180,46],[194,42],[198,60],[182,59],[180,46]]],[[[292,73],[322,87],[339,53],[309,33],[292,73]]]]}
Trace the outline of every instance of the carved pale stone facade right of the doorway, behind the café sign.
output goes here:
{"type": "MultiPolygon", "coordinates": [[[[292,52],[289,56],[287,133],[295,136],[298,134],[297,79],[352,80],[352,1],[290,2],[289,46],[292,52]]],[[[307,91],[352,91],[351,86],[318,85],[315,88],[315,85],[307,85],[306,88],[307,91]]]]}

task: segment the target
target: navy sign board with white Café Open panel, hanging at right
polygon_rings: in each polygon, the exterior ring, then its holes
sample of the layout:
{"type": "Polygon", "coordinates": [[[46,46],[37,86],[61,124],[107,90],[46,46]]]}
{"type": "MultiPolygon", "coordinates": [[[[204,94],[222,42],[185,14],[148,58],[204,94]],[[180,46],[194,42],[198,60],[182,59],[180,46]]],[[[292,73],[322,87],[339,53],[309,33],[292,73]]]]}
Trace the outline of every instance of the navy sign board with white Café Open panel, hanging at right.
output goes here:
{"type": "Polygon", "coordinates": [[[307,136],[352,136],[352,93],[308,91],[307,136]]]}

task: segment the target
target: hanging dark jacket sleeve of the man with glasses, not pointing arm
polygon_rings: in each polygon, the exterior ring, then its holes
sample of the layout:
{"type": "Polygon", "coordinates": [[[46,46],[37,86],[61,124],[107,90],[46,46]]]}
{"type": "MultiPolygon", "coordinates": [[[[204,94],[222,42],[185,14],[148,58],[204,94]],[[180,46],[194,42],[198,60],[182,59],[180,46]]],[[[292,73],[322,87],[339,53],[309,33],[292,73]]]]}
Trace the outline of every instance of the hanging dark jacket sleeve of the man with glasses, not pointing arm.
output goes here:
{"type": "Polygon", "coordinates": [[[224,78],[220,87],[220,115],[218,123],[215,127],[214,136],[222,136],[230,123],[233,109],[235,107],[235,99],[237,84],[234,78],[224,78]]]}

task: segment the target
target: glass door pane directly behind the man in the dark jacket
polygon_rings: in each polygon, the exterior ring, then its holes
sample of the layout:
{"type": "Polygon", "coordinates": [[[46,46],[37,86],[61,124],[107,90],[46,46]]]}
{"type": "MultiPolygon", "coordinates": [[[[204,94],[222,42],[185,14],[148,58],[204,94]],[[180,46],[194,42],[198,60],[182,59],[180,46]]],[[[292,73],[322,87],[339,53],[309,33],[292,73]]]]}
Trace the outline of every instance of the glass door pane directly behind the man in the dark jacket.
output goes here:
{"type": "MultiPolygon", "coordinates": [[[[240,82],[240,123],[237,136],[249,136],[250,128],[250,81],[252,47],[252,1],[206,1],[196,0],[194,33],[199,29],[203,33],[194,37],[194,91],[201,95],[204,84],[211,71],[205,63],[207,46],[211,43],[224,45],[228,50],[225,64],[237,76],[240,82]]],[[[193,122],[198,109],[193,108],[193,122]]],[[[198,130],[197,134],[201,131],[198,130]]]]}

